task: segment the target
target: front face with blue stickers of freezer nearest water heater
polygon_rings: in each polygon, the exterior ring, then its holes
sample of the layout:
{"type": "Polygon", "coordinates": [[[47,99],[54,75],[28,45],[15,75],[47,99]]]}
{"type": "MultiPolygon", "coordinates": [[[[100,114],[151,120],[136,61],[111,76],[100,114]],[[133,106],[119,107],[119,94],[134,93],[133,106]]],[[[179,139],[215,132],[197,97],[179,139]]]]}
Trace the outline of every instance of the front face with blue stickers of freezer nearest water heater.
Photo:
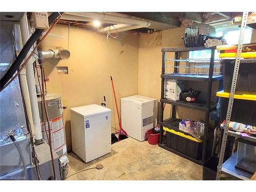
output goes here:
{"type": "Polygon", "coordinates": [[[84,118],[86,162],[111,152],[111,113],[84,118]]]}

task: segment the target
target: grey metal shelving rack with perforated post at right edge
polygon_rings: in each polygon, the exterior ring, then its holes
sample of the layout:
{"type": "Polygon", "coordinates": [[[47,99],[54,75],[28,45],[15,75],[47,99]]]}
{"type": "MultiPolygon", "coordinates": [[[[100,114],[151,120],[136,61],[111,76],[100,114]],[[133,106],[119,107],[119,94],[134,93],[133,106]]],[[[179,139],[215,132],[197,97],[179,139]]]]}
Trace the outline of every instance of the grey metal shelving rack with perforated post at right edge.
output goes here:
{"type": "Polygon", "coordinates": [[[241,60],[241,53],[242,53],[243,37],[244,37],[245,29],[246,29],[246,24],[249,24],[247,22],[247,16],[248,16],[248,12],[244,12],[243,17],[242,17],[239,44],[237,46],[236,60],[234,62],[234,72],[233,72],[233,77],[232,77],[230,93],[224,93],[223,91],[222,92],[217,92],[217,95],[219,97],[229,98],[228,108],[227,108],[227,115],[226,115],[226,120],[225,120],[226,123],[225,123],[225,127],[224,127],[224,135],[223,135],[223,138],[222,138],[220,159],[219,159],[218,171],[217,171],[217,177],[216,177],[217,180],[219,180],[221,178],[221,174],[226,174],[228,176],[231,176],[235,179],[240,179],[240,180],[249,180],[252,176],[248,173],[243,172],[242,170],[239,170],[239,169],[235,168],[237,152],[232,154],[231,157],[229,157],[229,159],[227,159],[225,162],[223,162],[228,136],[237,137],[244,143],[248,143],[248,142],[255,143],[256,142],[255,137],[251,137],[251,136],[243,137],[243,136],[240,135],[240,133],[233,132],[233,131],[230,131],[228,129],[234,99],[252,100],[252,102],[254,102],[256,100],[255,95],[246,95],[246,94],[245,95],[236,95],[235,94],[240,63],[242,63],[246,60],[246,59],[241,60]]]}

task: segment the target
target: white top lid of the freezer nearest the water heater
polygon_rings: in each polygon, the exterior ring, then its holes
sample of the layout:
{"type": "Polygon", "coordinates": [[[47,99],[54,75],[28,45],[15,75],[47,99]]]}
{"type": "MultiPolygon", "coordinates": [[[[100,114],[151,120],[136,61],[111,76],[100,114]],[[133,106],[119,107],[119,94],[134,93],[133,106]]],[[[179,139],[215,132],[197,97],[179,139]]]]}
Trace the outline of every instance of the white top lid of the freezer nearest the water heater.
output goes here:
{"type": "Polygon", "coordinates": [[[111,112],[111,110],[98,104],[77,106],[76,108],[70,109],[70,113],[74,113],[82,118],[90,117],[90,116],[105,113],[105,112],[111,112]]]}

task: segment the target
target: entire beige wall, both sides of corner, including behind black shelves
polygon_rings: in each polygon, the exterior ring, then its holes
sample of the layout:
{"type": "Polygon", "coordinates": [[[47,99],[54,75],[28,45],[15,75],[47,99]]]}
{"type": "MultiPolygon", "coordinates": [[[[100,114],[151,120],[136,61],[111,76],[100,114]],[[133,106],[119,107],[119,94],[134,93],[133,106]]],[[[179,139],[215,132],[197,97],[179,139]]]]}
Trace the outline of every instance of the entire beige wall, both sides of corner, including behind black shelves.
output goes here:
{"type": "MultiPolygon", "coordinates": [[[[110,42],[107,42],[105,35],[94,31],[71,27],[69,35],[67,26],[57,25],[53,29],[42,48],[46,50],[60,46],[71,52],[67,60],[51,59],[45,62],[46,76],[50,78],[48,92],[60,93],[63,105],[68,106],[64,112],[68,150],[72,148],[69,108],[100,104],[105,95],[107,107],[112,110],[112,126],[118,127],[110,75],[115,81],[119,106],[120,98],[129,95],[140,94],[160,99],[161,48],[183,47],[183,32],[183,28],[177,28],[139,37],[121,33],[118,40],[110,38],[110,42]],[[69,74],[58,73],[56,66],[68,66],[69,74]]],[[[254,30],[252,42],[255,39],[254,30]]],[[[170,105],[166,105],[165,118],[169,114],[170,105]]],[[[178,117],[204,119],[204,112],[178,108],[178,117]]]]}

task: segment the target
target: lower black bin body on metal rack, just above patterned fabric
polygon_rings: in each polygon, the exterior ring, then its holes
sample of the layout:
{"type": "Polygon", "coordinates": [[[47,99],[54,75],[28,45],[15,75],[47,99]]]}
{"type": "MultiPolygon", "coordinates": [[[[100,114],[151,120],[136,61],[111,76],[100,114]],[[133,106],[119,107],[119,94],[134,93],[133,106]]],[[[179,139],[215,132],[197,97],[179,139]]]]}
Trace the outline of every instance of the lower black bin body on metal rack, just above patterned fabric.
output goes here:
{"type": "MultiPolygon", "coordinates": [[[[220,97],[221,123],[226,119],[229,98],[220,97]]],[[[256,126],[256,101],[234,99],[231,121],[256,126]]]]}

